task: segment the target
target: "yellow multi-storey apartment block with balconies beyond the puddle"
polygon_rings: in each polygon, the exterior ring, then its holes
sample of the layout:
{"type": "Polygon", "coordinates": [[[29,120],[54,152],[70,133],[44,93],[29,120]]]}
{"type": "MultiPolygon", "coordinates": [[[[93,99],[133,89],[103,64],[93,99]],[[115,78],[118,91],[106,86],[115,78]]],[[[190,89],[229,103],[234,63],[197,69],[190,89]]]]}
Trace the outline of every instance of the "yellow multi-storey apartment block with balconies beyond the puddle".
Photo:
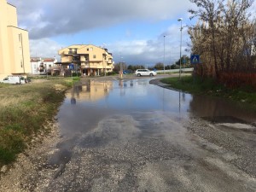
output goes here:
{"type": "Polygon", "coordinates": [[[79,66],[84,75],[101,75],[113,71],[113,56],[108,49],[92,44],[76,44],[59,50],[61,64],[79,66]]]}

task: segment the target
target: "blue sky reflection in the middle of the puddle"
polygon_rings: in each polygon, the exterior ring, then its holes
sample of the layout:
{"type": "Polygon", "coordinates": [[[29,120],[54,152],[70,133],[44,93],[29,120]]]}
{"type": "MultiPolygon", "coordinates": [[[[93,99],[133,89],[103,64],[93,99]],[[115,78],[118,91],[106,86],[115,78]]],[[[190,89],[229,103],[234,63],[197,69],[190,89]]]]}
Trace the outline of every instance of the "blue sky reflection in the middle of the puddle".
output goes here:
{"type": "MultiPolygon", "coordinates": [[[[113,89],[108,91],[106,96],[94,102],[83,101],[80,98],[77,105],[89,105],[117,111],[165,110],[177,112],[179,110],[179,92],[149,84],[148,79],[113,81],[113,89]]],[[[182,93],[180,95],[181,108],[186,112],[191,96],[182,93]]]]}

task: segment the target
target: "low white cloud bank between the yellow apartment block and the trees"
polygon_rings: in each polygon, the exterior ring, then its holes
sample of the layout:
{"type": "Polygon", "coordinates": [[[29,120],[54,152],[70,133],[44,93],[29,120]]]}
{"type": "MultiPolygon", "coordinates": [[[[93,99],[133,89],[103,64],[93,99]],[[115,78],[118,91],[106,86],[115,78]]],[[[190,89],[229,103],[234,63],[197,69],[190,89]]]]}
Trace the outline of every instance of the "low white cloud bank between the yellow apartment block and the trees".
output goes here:
{"type": "MultiPolygon", "coordinates": [[[[189,36],[183,30],[182,55],[189,55],[184,50],[188,48],[189,36]]],[[[148,64],[153,66],[157,62],[166,65],[173,64],[180,55],[179,26],[170,26],[166,32],[153,40],[119,41],[108,44],[108,49],[113,52],[115,62],[125,61],[127,64],[148,64]],[[164,35],[166,38],[164,40],[164,35]],[[165,44],[164,44],[165,41],[165,44]],[[164,51],[165,50],[165,51],[164,51]]]]}

